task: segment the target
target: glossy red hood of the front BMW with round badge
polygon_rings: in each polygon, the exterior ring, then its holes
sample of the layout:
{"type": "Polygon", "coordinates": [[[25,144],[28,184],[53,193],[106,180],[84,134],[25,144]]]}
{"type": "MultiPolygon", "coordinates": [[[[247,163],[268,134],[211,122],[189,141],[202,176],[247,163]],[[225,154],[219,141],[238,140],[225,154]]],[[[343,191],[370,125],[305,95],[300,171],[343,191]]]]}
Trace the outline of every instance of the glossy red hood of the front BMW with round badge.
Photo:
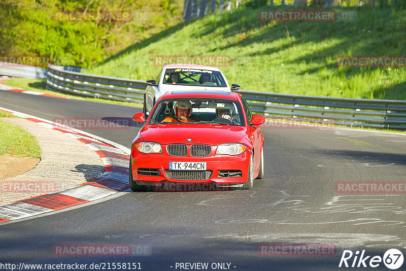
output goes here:
{"type": "Polygon", "coordinates": [[[245,126],[209,124],[153,124],[145,125],[140,131],[144,141],[160,144],[208,144],[238,142],[247,134],[245,126]],[[186,140],[191,139],[189,143],[186,140]]]}

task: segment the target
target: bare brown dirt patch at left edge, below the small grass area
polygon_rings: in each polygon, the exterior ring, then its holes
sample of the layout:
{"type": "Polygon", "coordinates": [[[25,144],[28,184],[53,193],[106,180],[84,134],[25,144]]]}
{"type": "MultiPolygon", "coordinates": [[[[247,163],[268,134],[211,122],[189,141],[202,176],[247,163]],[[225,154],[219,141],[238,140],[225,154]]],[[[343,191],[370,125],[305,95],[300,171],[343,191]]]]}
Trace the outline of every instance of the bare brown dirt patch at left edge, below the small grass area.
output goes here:
{"type": "Polygon", "coordinates": [[[33,157],[13,157],[0,155],[0,180],[15,177],[32,170],[41,161],[33,157]]]}

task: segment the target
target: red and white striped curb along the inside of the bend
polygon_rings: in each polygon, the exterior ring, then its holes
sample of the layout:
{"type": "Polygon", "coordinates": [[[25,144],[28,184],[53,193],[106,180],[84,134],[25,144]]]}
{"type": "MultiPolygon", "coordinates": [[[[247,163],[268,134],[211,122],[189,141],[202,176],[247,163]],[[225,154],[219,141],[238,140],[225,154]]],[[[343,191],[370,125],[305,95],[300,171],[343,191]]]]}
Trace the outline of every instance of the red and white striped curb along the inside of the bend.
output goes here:
{"type": "Polygon", "coordinates": [[[0,108],[18,117],[37,122],[58,130],[86,144],[103,160],[105,173],[89,182],[59,192],[18,200],[0,206],[0,223],[32,217],[55,210],[83,204],[129,189],[128,164],[130,150],[120,144],[99,138],[90,133],[61,125],[56,122],[33,117],[17,111],[0,108]]]}

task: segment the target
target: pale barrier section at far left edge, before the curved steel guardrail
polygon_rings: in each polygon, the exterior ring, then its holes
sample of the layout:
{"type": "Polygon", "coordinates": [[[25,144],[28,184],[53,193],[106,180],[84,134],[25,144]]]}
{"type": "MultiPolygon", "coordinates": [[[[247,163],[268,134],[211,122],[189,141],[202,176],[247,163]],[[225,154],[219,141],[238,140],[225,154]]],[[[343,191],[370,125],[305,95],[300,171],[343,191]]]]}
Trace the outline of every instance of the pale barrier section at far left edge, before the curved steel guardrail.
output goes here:
{"type": "Polygon", "coordinates": [[[0,75],[31,79],[47,78],[47,69],[40,67],[0,62],[0,75]]]}

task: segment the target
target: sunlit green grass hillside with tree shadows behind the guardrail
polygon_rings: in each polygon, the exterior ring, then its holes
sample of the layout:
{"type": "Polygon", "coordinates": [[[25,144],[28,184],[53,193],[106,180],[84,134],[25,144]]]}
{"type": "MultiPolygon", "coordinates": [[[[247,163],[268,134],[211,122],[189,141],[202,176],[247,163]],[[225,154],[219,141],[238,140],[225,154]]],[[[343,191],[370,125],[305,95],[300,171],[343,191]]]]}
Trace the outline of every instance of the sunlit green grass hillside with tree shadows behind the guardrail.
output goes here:
{"type": "Polygon", "coordinates": [[[404,1],[380,6],[339,8],[357,12],[352,22],[261,22],[259,10],[294,7],[243,7],[179,23],[85,72],[148,80],[160,70],[154,55],[223,55],[231,63],[220,69],[245,90],[403,100],[405,67],[334,63],[336,56],[406,55],[404,1]]]}

